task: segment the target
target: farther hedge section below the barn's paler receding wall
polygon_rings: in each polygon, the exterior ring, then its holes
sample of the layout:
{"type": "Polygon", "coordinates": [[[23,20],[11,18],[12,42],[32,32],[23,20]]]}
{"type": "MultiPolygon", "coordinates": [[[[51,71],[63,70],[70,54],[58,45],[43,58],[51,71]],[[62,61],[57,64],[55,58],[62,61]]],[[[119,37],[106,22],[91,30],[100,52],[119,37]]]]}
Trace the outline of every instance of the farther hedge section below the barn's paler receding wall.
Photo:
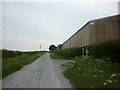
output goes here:
{"type": "Polygon", "coordinates": [[[75,58],[82,56],[82,48],[68,48],[63,50],[54,51],[55,53],[64,57],[75,58]]]}

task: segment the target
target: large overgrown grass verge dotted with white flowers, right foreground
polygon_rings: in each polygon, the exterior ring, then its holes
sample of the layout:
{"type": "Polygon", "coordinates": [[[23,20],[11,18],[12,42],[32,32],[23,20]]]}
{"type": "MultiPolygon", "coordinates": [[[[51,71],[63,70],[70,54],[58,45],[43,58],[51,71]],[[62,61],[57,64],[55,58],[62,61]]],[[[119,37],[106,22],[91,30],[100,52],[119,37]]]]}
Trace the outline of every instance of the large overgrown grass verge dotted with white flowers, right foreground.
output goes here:
{"type": "Polygon", "coordinates": [[[91,57],[62,65],[64,76],[76,88],[120,88],[120,63],[91,57]]]}

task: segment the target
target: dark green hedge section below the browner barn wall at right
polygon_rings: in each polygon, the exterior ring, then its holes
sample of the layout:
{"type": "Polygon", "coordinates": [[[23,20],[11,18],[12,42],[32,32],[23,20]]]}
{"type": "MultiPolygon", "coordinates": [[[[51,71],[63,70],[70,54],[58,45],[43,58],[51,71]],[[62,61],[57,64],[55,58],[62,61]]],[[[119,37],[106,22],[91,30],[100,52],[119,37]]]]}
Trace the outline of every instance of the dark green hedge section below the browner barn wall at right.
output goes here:
{"type": "Polygon", "coordinates": [[[120,40],[112,40],[99,44],[89,45],[88,54],[93,57],[110,58],[113,62],[120,61],[120,40]]]}

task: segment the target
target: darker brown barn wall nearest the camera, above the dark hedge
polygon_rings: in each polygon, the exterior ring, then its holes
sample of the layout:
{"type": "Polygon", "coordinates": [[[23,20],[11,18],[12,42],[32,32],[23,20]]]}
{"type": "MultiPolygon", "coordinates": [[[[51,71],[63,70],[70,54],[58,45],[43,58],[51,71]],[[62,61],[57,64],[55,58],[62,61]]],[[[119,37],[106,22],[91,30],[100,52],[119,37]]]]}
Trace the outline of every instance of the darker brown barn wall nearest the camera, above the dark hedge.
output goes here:
{"type": "Polygon", "coordinates": [[[94,20],[90,24],[90,44],[120,39],[120,16],[94,20]]]}

